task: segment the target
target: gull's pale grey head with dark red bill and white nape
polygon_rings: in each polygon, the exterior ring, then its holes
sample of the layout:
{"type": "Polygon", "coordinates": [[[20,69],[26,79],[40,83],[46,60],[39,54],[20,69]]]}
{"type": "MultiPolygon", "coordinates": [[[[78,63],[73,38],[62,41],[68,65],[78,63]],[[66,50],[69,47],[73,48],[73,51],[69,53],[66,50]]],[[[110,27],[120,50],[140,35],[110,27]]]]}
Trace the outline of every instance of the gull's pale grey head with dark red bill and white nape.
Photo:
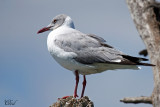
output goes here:
{"type": "Polygon", "coordinates": [[[58,27],[61,27],[62,25],[74,28],[72,19],[65,14],[60,14],[54,17],[51,23],[47,27],[40,29],[37,33],[54,30],[54,29],[57,29],[58,27]]]}

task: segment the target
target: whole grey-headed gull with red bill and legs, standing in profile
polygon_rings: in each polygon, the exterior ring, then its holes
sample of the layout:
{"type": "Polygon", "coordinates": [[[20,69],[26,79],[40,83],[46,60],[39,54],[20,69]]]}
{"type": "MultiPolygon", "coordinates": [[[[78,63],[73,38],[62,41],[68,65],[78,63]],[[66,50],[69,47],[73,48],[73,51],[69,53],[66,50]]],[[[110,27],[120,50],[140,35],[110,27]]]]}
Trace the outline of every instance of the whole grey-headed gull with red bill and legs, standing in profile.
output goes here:
{"type": "Polygon", "coordinates": [[[74,97],[78,97],[77,88],[79,74],[83,75],[84,95],[86,86],[85,75],[101,73],[116,69],[139,69],[137,65],[154,66],[141,61],[145,58],[133,57],[122,53],[106,44],[105,40],[94,34],[84,34],[75,29],[72,19],[60,14],[52,22],[37,33],[51,31],[48,35],[48,51],[53,58],[64,68],[71,70],[76,76],[74,97]]]}

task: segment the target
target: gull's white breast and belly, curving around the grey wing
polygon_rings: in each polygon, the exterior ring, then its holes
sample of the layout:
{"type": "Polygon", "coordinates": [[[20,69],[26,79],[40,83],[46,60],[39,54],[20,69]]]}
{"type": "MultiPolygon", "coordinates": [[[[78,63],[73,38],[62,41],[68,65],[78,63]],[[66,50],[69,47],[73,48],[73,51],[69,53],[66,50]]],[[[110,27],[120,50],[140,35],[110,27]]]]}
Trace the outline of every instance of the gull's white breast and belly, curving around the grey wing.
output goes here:
{"type": "Polygon", "coordinates": [[[64,33],[69,33],[74,29],[67,28],[67,27],[59,27],[52,32],[49,33],[47,38],[47,46],[48,51],[52,55],[52,57],[64,68],[69,69],[71,71],[79,70],[79,71],[86,71],[87,69],[92,68],[93,66],[84,65],[76,62],[73,58],[77,56],[74,52],[66,52],[60,47],[54,44],[55,40],[62,39],[60,36],[64,33]]]}

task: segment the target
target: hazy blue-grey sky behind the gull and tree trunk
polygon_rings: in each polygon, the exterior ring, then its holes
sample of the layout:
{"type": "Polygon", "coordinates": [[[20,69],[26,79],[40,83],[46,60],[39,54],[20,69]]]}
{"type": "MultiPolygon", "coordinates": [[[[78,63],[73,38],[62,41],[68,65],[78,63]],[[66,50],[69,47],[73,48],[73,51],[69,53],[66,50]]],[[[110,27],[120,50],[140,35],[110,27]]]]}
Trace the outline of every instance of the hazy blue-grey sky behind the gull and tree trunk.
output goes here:
{"type": "MultiPolygon", "coordinates": [[[[108,44],[133,55],[145,48],[125,0],[0,0],[0,107],[48,107],[72,95],[75,77],[47,50],[49,32],[37,35],[57,14],[67,14],[76,29],[103,37],[108,44]]],[[[80,95],[82,76],[78,87],[80,95]]],[[[151,107],[123,104],[123,97],[149,96],[152,68],[117,70],[87,76],[85,95],[95,107],[151,107]]]]}

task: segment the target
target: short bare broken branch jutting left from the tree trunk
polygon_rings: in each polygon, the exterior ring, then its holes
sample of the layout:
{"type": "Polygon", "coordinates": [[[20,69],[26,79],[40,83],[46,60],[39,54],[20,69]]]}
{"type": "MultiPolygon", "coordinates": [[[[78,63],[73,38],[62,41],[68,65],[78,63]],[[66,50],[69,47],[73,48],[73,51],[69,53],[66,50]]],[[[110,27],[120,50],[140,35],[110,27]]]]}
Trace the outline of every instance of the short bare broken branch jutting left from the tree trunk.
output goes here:
{"type": "Polygon", "coordinates": [[[126,97],[126,98],[124,98],[120,101],[124,102],[124,103],[134,103],[134,104],[138,104],[138,103],[152,104],[152,98],[151,97],[145,97],[145,96],[126,97]]]}

